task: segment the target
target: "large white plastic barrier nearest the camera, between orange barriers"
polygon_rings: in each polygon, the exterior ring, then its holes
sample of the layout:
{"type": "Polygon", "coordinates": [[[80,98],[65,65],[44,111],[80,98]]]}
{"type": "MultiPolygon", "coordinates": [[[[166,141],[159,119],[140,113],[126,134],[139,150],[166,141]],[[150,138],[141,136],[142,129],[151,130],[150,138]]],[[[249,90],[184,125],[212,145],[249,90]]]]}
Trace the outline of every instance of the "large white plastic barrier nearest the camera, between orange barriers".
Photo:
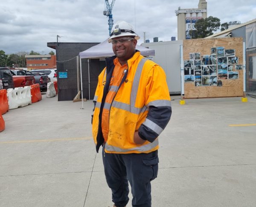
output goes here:
{"type": "Polygon", "coordinates": [[[30,86],[7,89],[9,109],[17,109],[31,104],[30,86]]]}

